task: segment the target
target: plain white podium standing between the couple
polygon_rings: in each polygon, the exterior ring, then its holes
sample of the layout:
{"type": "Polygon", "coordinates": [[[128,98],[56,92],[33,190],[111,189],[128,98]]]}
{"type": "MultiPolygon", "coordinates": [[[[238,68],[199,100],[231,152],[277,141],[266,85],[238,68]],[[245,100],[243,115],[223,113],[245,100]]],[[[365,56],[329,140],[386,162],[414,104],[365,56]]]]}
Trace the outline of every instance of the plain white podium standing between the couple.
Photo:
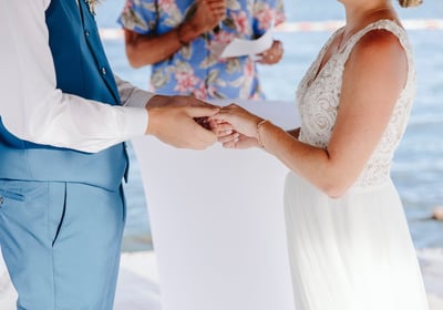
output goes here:
{"type": "MultiPolygon", "coordinates": [[[[285,128],[288,102],[240,102],[285,128]]],[[[261,149],[177,149],[133,141],[163,310],[293,310],[284,220],[288,169],[261,149]]]]}

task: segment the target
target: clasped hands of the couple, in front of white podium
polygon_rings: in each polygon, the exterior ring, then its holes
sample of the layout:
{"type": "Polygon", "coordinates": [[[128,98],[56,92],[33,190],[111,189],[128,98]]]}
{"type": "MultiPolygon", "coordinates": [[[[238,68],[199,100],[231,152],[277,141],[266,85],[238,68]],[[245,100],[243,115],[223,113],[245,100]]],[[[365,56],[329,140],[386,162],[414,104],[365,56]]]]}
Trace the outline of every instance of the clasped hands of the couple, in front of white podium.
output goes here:
{"type": "Polygon", "coordinates": [[[204,149],[217,141],[228,148],[259,145],[261,118],[236,104],[219,107],[193,96],[155,95],[146,110],[146,134],[179,148],[204,149]]]}

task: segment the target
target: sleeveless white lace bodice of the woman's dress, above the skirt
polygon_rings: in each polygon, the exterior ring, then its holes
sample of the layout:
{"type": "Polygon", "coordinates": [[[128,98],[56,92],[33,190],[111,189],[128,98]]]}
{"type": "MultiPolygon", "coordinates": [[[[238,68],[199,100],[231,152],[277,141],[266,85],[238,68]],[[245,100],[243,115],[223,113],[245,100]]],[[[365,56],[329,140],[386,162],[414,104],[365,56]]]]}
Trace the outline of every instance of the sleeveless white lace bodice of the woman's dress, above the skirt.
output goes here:
{"type": "Polygon", "coordinates": [[[365,33],[375,29],[391,31],[399,38],[408,56],[408,81],[396,101],[389,125],[375,151],[353,185],[354,187],[382,184],[389,179],[392,157],[408,123],[411,104],[415,95],[415,70],[412,49],[405,31],[391,20],[379,20],[371,23],[354,33],[341,52],[333,54],[320,72],[318,72],[329,44],[341,30],[336,31],[320,50],[316,61],[307,71],[297,90],[297,102],[301,117],[299,140],[310,145],[327,148],[340,104],[344,63],[356,43],[365,33]]]}

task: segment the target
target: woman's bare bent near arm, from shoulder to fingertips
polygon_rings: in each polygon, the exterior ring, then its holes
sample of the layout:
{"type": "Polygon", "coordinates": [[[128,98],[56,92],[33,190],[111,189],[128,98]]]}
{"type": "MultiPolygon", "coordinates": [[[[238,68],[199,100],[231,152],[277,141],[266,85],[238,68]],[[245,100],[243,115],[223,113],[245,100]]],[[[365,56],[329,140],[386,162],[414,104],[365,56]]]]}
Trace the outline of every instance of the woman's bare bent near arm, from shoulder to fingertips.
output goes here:
{"type": "Polygon", "coordinates": [[[327,149],[301,143],[269,122],[257,128],[260,118],[237,107],[223,108],[220,116],[231,114],[225,118],[238,132],[256,137],[291,170],[327,195],[339,197],[354,183],[381,140],[406,75],[404,50],[392,33],[364,35],[346,64],[340,108],[327,149]]]}

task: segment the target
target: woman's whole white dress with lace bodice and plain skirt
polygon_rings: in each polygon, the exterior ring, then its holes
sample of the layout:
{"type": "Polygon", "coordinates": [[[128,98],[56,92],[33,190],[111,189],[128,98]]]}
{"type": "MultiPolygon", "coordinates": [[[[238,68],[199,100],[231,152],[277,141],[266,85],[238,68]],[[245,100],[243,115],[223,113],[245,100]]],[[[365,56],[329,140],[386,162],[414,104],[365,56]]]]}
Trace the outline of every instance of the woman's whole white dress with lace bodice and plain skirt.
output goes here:
{"type": "Polygon", "coordinates": [[[340,101],[344,63],[373,29],[394,33],[409,60],[408,82],[381,142],[349,192],[329,198],[289,173],[285,188],[288,248],[297,310],[425,310],[426,296],[398,192],[390,178],[393,153],[415,94],[411,46],[402,28],[377,21],[356,33],[318,71],[320,51],[297,92],[299,140],[327,147],[340,101]]]}

